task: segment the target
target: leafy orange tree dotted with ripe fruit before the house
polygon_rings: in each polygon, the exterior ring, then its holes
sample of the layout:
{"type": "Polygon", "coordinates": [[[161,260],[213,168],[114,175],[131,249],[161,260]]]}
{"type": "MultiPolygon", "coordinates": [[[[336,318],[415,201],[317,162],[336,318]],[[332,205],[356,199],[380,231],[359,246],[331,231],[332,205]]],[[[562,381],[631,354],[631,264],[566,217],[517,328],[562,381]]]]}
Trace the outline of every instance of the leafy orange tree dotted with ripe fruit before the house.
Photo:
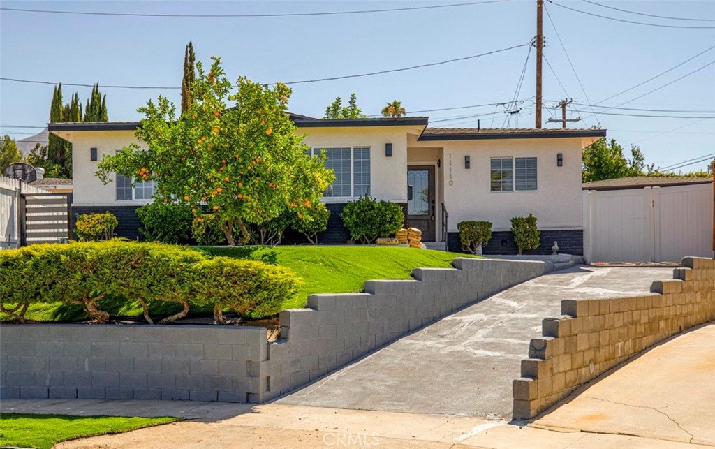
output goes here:
{"type": "Polygon", "coordinates": [[[132,144],[105,156],[97,176],[105,183],[112,172],[154,180],[157,199],[187,202],[197,221],[207,207],[230,245],[248,241],[246,223],[261,225],[286,209],[302,218],[334,174],[324,157],[307,155],[287,114],[291,90],[240,77],[231,94],[218,57],[208,73],[197,63],[197,72],[194,102],[180,117],[161,96],[138,109],[144,118],[136,135],[148,151],[132,144]]]}

